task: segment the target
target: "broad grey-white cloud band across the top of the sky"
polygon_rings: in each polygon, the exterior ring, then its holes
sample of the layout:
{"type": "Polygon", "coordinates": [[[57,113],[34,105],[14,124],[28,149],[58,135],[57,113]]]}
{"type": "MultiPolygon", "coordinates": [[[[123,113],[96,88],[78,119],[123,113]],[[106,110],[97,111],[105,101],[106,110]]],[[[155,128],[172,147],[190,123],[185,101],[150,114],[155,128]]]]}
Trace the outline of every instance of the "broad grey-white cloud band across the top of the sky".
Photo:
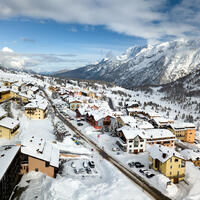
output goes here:
{"type": "Polygon", "coordinates": [[[182,0],[173,8],[167,0],[6,0],[0,18],[25,16],[65,23],[104,25],[147,40],[199,35],[199,0],[182,0]],[[167,12],[161,12],[162,10],[167,12]],[[157,23],[155,23],[157,22],[157,23]]]}

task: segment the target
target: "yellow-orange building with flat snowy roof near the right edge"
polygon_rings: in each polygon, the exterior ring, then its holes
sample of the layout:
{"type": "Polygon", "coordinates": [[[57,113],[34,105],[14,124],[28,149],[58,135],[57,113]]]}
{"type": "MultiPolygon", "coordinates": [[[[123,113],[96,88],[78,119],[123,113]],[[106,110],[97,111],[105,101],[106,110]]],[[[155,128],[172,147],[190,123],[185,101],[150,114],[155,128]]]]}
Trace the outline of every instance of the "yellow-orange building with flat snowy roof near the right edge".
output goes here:
{"type": "Polygon", "coordinates": [[[174,123],[170,124],[168,129],[172,131],[182,142],[194,143],[196,132],[194,124],[174,123]]]}

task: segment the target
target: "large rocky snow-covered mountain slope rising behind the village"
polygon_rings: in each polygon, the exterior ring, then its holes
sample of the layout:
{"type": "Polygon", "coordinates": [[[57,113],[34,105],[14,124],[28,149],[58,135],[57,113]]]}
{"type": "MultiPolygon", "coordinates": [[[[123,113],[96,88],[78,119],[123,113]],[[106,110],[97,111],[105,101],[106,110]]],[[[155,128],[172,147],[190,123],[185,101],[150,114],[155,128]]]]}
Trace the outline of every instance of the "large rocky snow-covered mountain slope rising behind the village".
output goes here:
{"type": "Polygon", "coordinates": [[[124,54],[103,59],[60,77],[112,81],[132,87],[175,81],[200,68],[200,40],[177,40],[131,47],[124,54]]]}

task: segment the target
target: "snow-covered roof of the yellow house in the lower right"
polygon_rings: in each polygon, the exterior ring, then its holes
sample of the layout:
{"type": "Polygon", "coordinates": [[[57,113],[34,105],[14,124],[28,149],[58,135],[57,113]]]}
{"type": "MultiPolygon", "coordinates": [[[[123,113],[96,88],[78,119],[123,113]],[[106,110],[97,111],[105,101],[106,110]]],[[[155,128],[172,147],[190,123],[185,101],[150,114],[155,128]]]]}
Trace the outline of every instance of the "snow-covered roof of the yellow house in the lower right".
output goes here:
{"type": "Polygon", "coordinates": [[[184,159],[180,153],[174,150],[174,148],[163,145],[154,144],[147,148],[147,151],[153,159],[158,159],[162,163],[166,162],[173,156],[184,159]]]}

